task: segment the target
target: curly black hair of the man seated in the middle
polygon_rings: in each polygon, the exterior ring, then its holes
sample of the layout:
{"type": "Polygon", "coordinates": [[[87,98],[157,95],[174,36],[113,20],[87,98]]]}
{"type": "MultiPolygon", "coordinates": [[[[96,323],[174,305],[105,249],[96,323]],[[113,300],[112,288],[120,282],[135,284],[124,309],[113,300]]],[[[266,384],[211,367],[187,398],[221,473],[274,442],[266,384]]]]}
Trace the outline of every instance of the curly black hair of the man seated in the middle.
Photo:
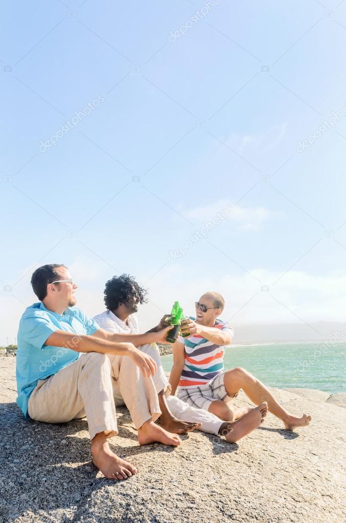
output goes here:
{"type": "Polygon", "coordinates": [[[122,274],[121,276],[113,276],[107,281],[103,300],[109,311],[118,309],[119,305],[132,300],[137,303],[146,303],[147,291],[140,287],[136,280],[129,274],[122,274]]]}

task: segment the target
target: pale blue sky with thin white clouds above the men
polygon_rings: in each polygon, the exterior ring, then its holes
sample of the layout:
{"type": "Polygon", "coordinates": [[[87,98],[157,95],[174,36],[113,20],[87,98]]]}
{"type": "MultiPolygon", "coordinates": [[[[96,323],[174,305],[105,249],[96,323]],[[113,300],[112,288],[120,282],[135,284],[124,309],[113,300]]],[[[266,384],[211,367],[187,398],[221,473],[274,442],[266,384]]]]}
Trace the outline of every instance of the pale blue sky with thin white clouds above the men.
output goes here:
{"type": "Polygon", "coordinates": [[[0,344],[56,262],[90,315],[135,276],[143,327],[210,289],[235,325],[344,320],[346,2],[11,2],[2,26],[0,344]]]}

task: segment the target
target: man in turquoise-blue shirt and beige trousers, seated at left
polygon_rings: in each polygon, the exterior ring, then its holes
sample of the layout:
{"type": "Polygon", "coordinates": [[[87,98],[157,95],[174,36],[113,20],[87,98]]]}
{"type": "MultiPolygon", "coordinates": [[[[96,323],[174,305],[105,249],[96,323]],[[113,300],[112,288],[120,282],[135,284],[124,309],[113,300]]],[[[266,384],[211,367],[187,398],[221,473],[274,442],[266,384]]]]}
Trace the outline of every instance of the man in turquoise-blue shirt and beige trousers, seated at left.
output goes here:
{"type": "Polygon", "coordinates": [[[46,423],[86,415],[94,464],[110,479],[137,472],[107,442],[118,434],[117,390],[141,445],[179,445],[176,434],[154,423],[161,414],[152,379],[156,363],[136,348],[162,343],[169,327],[143,335],[108,333],[76,307],[77,286],[64,265],[38,268],[31,285],[40,302],[26,309],[18,330],[17,404],[23,414],[46,423]]]}

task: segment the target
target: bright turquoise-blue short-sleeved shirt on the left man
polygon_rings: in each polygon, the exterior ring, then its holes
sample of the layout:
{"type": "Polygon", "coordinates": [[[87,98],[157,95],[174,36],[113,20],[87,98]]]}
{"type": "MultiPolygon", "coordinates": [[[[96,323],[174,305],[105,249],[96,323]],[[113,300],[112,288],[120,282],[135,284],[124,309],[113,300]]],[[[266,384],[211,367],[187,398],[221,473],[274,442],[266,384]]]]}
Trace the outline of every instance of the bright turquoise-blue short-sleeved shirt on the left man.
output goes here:
{"type": "Polygon", "coordinates": [[[49,311],[42,302],[34,303],[25,310],[17,336],[16,378],[17,404],[26,418],[29,418],[29,397],[38,380],[53,376],[81,354],[66,347],[45,345],[47,338],[58,330],[90,335],[97,329],[97,323],[76,306],[68,307],[63,314],[49,311]]]}

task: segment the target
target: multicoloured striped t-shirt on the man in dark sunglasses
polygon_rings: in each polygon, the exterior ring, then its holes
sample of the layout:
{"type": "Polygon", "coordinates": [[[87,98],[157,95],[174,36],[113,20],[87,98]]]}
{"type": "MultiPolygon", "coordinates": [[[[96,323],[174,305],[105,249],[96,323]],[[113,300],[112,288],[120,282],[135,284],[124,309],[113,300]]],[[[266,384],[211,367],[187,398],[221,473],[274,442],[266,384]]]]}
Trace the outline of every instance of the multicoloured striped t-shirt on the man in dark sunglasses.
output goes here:
{"type": "MultiPolygon", "coordinates": [[[[191,317],[191,320],[195,321],[191,317]]],[[[215,328],[227,331],[233,336],[233,327],[216,320],[215,328]]],[[[224,345],[216,345],[201,335],[192,335],[184,338],[179,336],[179,343],[185,344],[185,362],[182,369],[178,388],[191,389],[212,380],[224,369],[224,345]]]]}

